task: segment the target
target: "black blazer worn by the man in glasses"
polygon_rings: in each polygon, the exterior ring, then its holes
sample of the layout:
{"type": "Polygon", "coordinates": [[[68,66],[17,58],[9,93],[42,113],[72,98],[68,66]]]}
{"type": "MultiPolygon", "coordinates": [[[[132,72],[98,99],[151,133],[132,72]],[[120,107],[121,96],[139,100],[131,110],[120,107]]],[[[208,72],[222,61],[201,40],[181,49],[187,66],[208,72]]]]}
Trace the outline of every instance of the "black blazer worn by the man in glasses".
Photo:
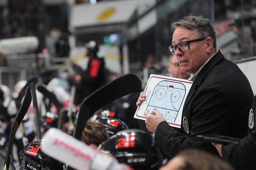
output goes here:
{"type": "Polygon", "coordinates": [[[247,113],[253,97],[243,72],[218,51],[196,76],[189,90],[182,112],[181,132],[164,121],[157,126],[155,138],[169,157],[187,148],[218,155],[210,142],[202,143],[196,136],[213,133],[245,137],[247,113]]]}

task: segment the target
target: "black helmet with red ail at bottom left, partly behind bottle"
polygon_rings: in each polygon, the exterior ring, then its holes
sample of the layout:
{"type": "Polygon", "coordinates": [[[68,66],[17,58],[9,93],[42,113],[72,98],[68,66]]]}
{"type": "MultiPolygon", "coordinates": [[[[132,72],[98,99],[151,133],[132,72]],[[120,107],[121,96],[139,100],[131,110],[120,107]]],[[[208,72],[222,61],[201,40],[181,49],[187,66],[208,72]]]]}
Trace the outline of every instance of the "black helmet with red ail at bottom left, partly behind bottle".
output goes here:
{"type": "Polygon", "coordinates": [[[42,140],[30,142],[20,152],[16,170],[65,170],[66,165],[40,150],[42,140]]]}

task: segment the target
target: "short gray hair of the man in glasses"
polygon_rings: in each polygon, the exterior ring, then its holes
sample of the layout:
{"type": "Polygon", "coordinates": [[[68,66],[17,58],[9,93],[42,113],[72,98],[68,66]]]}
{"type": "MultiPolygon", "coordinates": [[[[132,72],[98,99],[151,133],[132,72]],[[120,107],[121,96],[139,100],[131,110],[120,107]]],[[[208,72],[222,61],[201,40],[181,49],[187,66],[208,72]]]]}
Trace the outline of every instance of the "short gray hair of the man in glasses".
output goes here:
{"type": "Polygon", "coordinates": [[[184,18],[173,22],[170,25],[172,33],[179,26],[182,26],[189,30],[195,30],[195,36],[197,36],[198,38],[211,37],[211,39],[213,40],[213,47],[217,49],[216,32],[214,30],[211,20],[202,16],[193,16],[192,14],[189,14],[187,16],[184,16],[184,18]]]}

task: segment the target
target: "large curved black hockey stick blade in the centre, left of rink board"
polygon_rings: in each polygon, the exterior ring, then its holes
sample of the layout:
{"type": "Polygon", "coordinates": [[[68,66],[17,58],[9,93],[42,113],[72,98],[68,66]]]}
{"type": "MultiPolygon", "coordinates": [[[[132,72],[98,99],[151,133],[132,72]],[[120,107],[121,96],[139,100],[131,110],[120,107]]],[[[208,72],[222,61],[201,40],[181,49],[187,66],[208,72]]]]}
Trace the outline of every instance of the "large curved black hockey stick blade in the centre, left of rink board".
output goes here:
{"type": "Polygon", "coordinates": [[[126,74],[102,86],[80,105],[75,123],[74,138],[81,140],[87,120],[104,105],[141,89],[141,81],[135,74],[126,74]]]}

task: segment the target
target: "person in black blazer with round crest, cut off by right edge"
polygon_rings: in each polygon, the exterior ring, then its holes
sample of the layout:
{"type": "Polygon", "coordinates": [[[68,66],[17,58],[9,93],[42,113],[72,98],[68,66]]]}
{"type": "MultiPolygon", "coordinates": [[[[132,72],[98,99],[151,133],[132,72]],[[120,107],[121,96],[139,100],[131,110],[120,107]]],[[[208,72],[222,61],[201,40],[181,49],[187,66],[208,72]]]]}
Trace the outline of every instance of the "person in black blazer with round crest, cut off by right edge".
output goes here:
{"type": "Polygon", "coordinates": [[[256,169],[256,96],[248,120],[249,133],[238,144],[222,145],[212,142],[223,160],[231,164],[236,170],[256,169]]]}

